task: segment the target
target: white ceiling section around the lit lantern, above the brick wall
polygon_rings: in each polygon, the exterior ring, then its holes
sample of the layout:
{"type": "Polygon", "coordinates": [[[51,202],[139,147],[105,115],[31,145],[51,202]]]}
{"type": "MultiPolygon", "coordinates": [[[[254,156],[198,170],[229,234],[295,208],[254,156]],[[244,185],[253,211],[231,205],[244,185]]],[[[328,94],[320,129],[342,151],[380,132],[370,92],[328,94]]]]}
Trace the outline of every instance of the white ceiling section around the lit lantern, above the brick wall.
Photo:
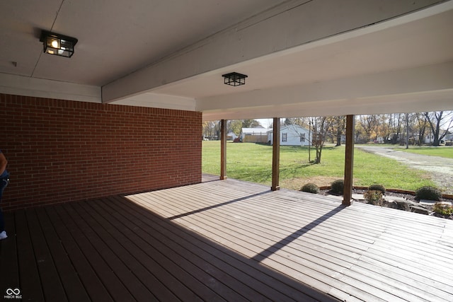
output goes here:
{"type": "Polygon", "coordinates": [[[0,1],[0,72],[103,86],[280,2],[0,1]],[[44,54],[42,29],[76,37],[74,56],[44,54]]]}

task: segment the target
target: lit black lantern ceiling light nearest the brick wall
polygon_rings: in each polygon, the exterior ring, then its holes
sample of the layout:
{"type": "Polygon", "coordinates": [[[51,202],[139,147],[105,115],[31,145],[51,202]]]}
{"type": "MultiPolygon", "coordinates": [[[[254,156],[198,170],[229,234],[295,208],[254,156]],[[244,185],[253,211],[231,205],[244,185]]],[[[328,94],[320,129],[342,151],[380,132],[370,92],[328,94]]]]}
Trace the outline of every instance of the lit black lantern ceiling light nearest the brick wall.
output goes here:
{"type": "Polygon", "coordinates": [[[55,54],[68,58],[74,54],[74,45],[77,43],[75,37],[50,33],[47,30],[41,31],[40,41],[44,45],[44,52],[46,54],[55,54]]]}

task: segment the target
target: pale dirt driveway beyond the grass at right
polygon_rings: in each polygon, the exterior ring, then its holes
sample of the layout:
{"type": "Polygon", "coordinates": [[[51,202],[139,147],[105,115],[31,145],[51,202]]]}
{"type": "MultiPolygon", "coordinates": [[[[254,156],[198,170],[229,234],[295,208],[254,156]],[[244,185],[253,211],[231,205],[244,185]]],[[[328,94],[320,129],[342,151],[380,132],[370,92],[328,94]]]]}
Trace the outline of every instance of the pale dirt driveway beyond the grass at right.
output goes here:
{"type": "Polygon", "coordinates": [[[393,158],[411,168],[428,171],[432,181],[442,189],[443,193],[453,194],[453,159],[451,158],[396,151],[382,146],[356,146],[356,148],[393,158]]]}

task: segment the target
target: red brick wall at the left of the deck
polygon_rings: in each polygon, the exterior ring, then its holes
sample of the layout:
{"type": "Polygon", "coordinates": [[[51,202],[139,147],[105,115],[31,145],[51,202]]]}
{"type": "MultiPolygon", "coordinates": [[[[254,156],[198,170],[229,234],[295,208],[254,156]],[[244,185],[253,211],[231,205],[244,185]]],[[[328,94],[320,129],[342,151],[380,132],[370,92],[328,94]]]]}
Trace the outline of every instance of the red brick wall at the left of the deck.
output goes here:
{"type": "Polygon", "coordinates": [[[201,181],[202,114],[0,94],[2,208],[201,181]]]}

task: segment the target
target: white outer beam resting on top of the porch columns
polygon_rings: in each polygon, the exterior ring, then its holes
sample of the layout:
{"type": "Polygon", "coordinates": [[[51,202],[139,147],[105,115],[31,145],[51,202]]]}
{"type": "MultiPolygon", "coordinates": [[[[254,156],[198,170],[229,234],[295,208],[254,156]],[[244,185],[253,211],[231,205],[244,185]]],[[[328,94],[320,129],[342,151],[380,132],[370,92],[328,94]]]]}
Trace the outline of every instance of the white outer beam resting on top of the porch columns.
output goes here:
{"type": "Polygon", "coordinates": [[[204,120],[452,110],[453,62],[197,100],[204,120]],[[277,100],[277,101],[276,101],[277,100]]]}

